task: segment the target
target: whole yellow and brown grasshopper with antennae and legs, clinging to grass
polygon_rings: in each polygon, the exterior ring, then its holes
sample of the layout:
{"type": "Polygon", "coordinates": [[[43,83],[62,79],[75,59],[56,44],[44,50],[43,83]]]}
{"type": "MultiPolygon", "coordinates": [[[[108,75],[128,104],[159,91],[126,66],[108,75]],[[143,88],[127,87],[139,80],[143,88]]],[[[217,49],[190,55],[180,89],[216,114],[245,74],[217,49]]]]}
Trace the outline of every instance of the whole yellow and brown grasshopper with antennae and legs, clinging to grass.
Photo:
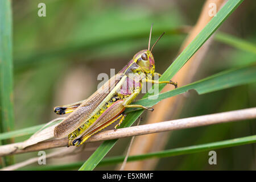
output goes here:
{"type": "Polygon", "coordinates": [[[71,113],[55,127],[55,138],[68,136],[69,146],[80,146],[93,134],[119,120],[114,127],[114,130],[117,130],[126,116],[123,112],[127,107],[153,111],[152,108],[131,104],[141,92],[143,82],[172,84],[177,88],[177,82],[152,80],[154,75],[161,76],[155,72],[152,49],[164,33],[150,49],[151,34],[152,26],[148,49],[136,53],[121,71],[111,77],[92,96],[84,101],[54,108],[56,114],[71,113]]]}

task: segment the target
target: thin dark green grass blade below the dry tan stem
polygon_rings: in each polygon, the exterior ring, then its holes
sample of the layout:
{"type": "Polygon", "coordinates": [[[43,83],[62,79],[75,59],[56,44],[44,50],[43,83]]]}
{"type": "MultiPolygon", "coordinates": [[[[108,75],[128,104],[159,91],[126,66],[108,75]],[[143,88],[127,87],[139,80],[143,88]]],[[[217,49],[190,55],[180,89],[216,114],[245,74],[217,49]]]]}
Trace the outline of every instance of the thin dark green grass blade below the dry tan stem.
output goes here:
{"type": "MultiPolygon", "coordinates": [[[[134,155],[129,156],[127,161],[137,161],[137,160],[145,160],[145,159],[152,159],[152,158],[168,158],[171,156],[178,156],[178,155],[187,155],[193,154],[196,152],[204,152],[210,150],[216,150],[220,148],[228,148],[228,147],[236,147],[242,146],[245,144],[255,143],[256,142],[256,135],[249,136],[249,137],[241,137],[236,139],[229,139],[224,140],[221,142],[212,142],[207,144],[198,144],[196,146],[188,146],[188,147],[181,147],[181,148],[174,148],[170,150],[158,151],[158,152],[151,152],[149,154],[143,155],[134,155]]],[[[99,166],[102,165],[109,165],[109,164],[117,164],[123,162],[125,156],[114,156],[103,159],[99,166]]],[[[81,166],[83,162],[76,162],[71,164],[62,164],[58,166],[40,166],[38,168],[24,168],[26,170],[64,170],[64,169],[73,169],[78,168],[81,166]]]]}

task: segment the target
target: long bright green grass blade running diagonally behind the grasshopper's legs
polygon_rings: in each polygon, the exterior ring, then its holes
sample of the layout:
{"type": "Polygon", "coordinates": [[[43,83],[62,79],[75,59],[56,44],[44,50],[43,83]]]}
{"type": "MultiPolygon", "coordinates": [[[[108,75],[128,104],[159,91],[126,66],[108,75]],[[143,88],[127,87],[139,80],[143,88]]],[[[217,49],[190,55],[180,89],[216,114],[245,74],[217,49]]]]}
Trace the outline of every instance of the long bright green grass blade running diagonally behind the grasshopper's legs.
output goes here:
{"type": "MultiPolygon", "coordinates": [[[[226,18],[242,3],[242,0],[228,1],[220,11],[210,20],[210,22],[203,28],[203,30],[196,36],[196,38],[184,49],[183,52],[177,57],[173,64],[163,73],[160,80],[170,80],[185,63],[193,56],[205,41],[217,30],[218,27],[224,22],[226,18]]],[[[159,90],[163,86],[159,85],[159,90]]],[[[147,97],[148,94],[144,96],[147,97]]],[[[129,127],[134,121],[142,114],[143,111],[135,111],[127,115],[125,122],[121,127],[129,127]]],[[[80,167],[79,170],[93,170],[98,163],[104,158],[108,151],[114,146],[117,140],[112,140],[109,144],[106,141],[90,156],[88,160],[80,167]]]]}

